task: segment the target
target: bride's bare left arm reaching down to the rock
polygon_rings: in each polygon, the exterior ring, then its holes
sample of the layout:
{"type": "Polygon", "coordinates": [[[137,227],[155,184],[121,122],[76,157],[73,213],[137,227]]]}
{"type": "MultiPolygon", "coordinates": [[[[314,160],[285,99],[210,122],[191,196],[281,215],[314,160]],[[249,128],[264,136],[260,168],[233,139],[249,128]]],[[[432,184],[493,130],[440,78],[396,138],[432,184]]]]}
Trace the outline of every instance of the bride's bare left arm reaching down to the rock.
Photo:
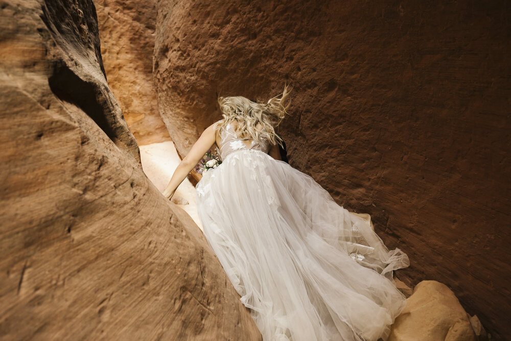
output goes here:
{"type": "Polygon", "coordinates": [[[190,149],[190,152],[183,158],[179,166],[177,166],[174,174],[172,174],[169,185],[167,185],[165,191],[162,192],[165,197],[169,199],[172,198],[184,178],[187,177],[188,173],[199,163],[202,156],[213,146],[215,143],[215,130],[213,126],[214,124],[204,130],[200,138],[192,146],[192,149],[190,149]]]}

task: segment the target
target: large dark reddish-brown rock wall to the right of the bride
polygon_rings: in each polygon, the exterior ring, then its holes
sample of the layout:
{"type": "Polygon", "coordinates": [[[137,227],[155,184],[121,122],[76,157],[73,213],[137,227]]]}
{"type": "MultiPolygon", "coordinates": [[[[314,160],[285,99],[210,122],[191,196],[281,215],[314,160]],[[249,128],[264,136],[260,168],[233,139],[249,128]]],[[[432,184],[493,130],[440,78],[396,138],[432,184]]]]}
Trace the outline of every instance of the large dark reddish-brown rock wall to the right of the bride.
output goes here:
{"type": "Polygon", "coordinates": [[[154,80],[180,155],[217,95],[294,85],[292,166],[368,213],[496,338],[511,334],[509,6],[433,2],[157,2],[154,80]]]}

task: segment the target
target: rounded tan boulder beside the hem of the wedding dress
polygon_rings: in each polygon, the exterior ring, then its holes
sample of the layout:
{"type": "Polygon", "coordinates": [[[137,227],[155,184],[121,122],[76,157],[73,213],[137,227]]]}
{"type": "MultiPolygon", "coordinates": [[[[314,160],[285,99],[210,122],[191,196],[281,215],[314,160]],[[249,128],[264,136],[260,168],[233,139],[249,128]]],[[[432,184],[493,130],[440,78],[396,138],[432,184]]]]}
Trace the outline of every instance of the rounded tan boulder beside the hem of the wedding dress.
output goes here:
{"type": "Polygon", "coordinates": [[[422,281],[406,300],[388,341],[475,341],[470,315],[454,293],[436,281],[422,281]]]}

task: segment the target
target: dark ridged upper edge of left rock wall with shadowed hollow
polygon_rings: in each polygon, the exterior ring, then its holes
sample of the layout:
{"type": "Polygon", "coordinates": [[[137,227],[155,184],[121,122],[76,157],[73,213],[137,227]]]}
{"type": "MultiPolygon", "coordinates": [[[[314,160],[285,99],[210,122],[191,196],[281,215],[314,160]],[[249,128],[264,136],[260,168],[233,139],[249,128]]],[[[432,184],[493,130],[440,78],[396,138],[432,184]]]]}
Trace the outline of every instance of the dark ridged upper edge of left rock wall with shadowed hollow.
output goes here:
{"type": "Polygon", "coordinates": [[[94,3],[45,0],[40,17],[62,55],[49,75],[52,92],[87,113],[115,145],[140,164],[138,145],[106,82],[94,3]]]}

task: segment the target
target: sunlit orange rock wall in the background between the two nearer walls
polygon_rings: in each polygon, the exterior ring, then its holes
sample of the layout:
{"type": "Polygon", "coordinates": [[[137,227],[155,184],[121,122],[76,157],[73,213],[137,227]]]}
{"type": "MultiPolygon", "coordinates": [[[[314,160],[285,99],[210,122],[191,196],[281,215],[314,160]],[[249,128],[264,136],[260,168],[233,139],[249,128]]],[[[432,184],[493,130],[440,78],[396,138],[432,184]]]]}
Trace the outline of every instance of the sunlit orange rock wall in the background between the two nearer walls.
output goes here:
{"type": "Polygon", "coordinates": [[[106,77],[139,145],[170,141],[153,84],[156,4],[95,0],[106,77]]]}

